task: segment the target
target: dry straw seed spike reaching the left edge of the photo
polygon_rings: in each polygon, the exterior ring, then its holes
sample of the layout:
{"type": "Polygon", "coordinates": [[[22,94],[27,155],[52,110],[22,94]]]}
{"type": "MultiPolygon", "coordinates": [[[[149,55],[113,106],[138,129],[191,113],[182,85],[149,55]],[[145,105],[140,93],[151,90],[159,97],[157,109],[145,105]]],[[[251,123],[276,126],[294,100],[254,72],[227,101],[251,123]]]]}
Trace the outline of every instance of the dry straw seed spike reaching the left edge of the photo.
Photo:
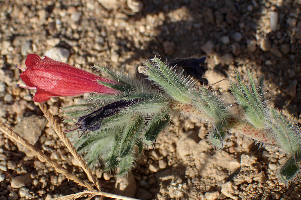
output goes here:
{"type": "Polygon", "coordinates": [[[57,171],[57,173],[64,174],[64,176],[69,179],[73,180],[75,183],[77,183],[80,186],[83,186],[85,188],[88,188],[89,190],[93,190],[93,186],[85,181],[80,180],[75,175],[69,173],[65,168],[61,167],[57,162],[51,160],[48,156],[46,156],[41,150],[36,149],[32,144],[30,144],[26,139],[22,138],[18,133],[14,132],[11,128],[6,126],[4,123],[0,121],[0,130],[7,135],[8,137],[12,138],[13,140],[19,142],[23,146],[25,146],[27,149],[35,153],[40,160],[47,162],[51,167],[57,171]]]}

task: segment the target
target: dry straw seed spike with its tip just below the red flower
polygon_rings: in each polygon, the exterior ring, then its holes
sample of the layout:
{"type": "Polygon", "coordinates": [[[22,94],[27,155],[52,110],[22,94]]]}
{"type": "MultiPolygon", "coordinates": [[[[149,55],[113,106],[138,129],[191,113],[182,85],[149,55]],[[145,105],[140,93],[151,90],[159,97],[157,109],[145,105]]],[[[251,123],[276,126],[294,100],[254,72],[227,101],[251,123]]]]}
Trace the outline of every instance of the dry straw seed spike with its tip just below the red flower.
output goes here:
{"type": "MultiPolygon", "coordinates": [[[[46,119],[48,120],[48,122],[51,124],[52,128],[54,129],[54,131],[57,133],[57,135],[61,138],[61,140],[64,142],[64,144],[66,145],[66,147],[69,149],[70,153],[74,156],[74,158],[77,160],[77,162],[80,164],[80,166],[83,168],[83,170],[85,171],[85,173],[87,174],[88,178],[90,180],[92,180],[92,182],[94,183],[94,185],[96,186],[96,188],[101,191],[101,186],[100,183],[98,181],[98,179],[94,176],[94,174],[92,173],[92,171],[88,168],[87,164],[84,162],[84,160],[82,159],[82,156],[80,156],[77,151],[75,150],[75,148],[73,147],[73,145],[71,144],[70,140],[66,137],[66,135],[64,134],[63,130],[61,129],[61,127],[58,125],[57,121],[55,121],[53,119],[53,115],[48,111],[48,109],[46,108],[46,105],[42,106],[41,103],[39,103],[39,107],[42,110],[42,112],[44,113],[44,116],[46,117],[46,119]]],[[[91,190],[91,189],[90,189],[91,190]]]]}

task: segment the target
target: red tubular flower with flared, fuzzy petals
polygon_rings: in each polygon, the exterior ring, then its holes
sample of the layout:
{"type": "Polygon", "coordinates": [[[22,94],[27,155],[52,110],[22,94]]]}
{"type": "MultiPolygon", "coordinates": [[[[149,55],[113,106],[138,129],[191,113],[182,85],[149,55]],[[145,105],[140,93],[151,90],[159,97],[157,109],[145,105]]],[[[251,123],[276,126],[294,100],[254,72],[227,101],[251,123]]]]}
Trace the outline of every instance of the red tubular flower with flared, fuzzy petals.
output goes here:
{"type": "Polygon", "coordinates": [[[55,96],[75,96],[87,92],[119,93],[116,89],[101,85],[97,80],[117,84],[116,82],[46,56],[41,59],[36,54],[28,54],[25,65],[27,69],[20,77],[26,85],[36,87],[34,102],[45,102],[55,96]]]}

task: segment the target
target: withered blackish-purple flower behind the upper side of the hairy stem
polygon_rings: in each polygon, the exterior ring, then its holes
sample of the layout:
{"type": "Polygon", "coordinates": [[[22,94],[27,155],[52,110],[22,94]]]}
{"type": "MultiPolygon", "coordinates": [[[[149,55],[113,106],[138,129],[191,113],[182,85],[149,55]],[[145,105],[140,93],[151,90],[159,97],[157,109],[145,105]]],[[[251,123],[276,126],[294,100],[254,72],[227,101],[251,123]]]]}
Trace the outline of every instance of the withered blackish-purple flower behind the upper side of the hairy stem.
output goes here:
{"type": "Polygon", "coordinates": [[[167,61],[167,64],[174,67],[182,67],[184,71],[193,76],[195,79],[199,80],[203,85],[208,84],[208,80],[203,78],[202,76],[205,74],[207,70],[205,67],[201,66],[201,64],[206,60],[206,57],[201,58],[179,58],[179,59],[171,59],[167,61]]]}

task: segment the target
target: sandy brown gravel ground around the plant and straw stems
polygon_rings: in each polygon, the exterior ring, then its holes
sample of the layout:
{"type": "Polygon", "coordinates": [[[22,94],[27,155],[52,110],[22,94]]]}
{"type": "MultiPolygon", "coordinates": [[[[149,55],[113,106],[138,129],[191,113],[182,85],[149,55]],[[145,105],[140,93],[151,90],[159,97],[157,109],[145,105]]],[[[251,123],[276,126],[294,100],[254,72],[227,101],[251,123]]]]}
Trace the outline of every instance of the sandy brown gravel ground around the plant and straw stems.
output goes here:
{"type": "MultiPolygon", "coordinates": [[[[28,53],[50,55],[92,72],[98,64],[139,76],[146,59],[207,56],[210,83],[250,68],[265,77],[271,104],[300,121],[299,0],[15,0],[0,1],[0,120],[81,179],[87,179],[32,102],[20,70],[28,53]]],[[[227,83],[214,86],[227,94],[227,83]]],[[[73,98],[51,98],[60,107],[73,98]]],[[[284,154],[234,138],[222,152],[206,143],[206,126],[172,119],[154,150],[127,179],[101,174],[102,189],[140,199],[300,199],[300,183],[281,186],[284,154]],[[115,185],[122,183],[128,190],[115,185]]],[[[63,126],[63,125],[62,125],[63,126]]],[[[120,185],[120,184],[119,184],[120,185]]],[[[0,200],[51,199],[82,191],[0,133],[0,200]]]]}

